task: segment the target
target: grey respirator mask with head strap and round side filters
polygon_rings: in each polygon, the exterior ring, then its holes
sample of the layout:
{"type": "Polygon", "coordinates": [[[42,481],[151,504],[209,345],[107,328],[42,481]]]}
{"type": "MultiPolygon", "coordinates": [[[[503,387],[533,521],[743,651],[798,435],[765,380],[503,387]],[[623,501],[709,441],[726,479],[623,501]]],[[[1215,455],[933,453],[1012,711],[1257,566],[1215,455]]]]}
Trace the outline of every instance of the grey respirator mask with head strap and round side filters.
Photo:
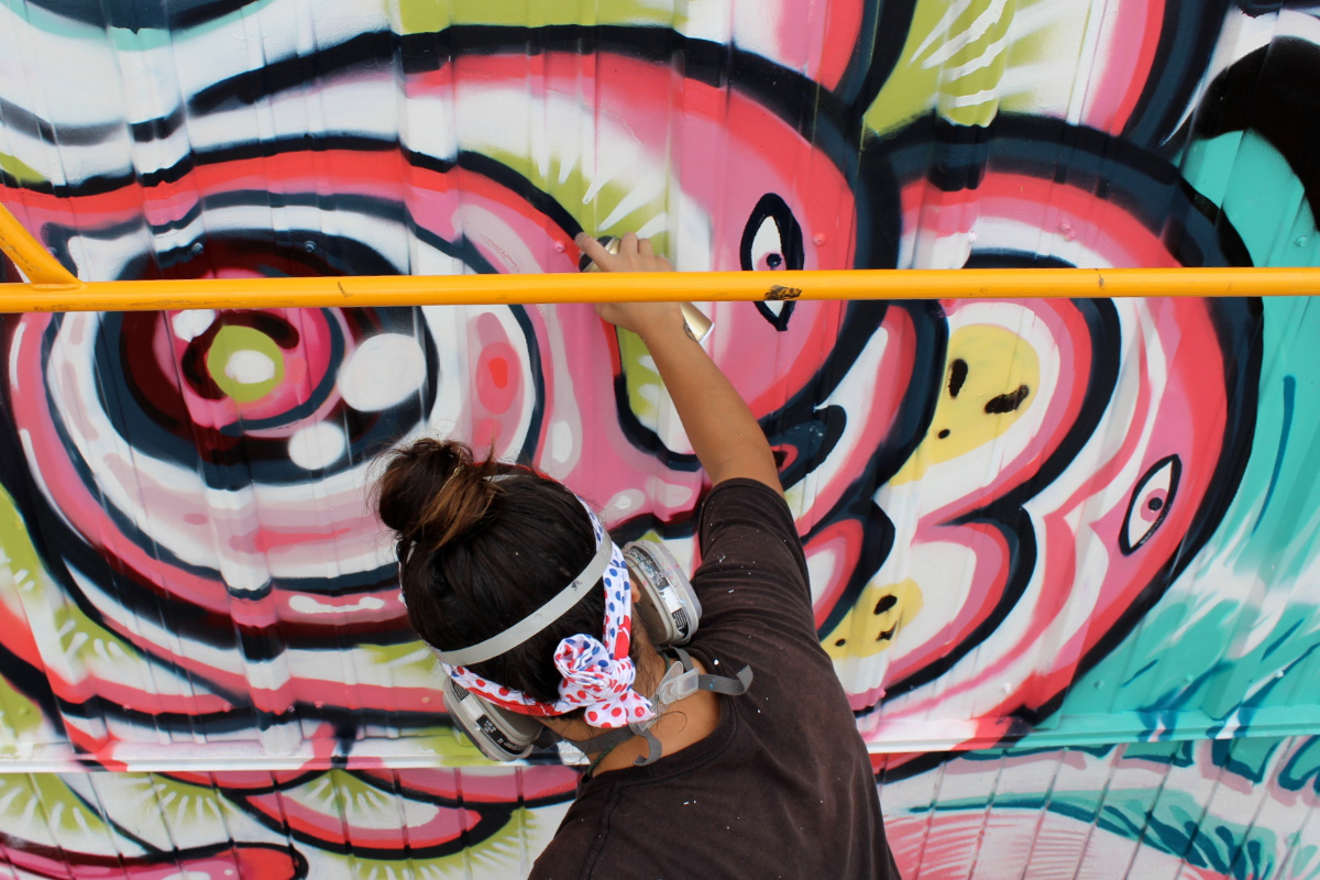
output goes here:
{"type": "MultiPolygon", "coordinates": [[[[545,606],[479,645],[438,652],[441,660],[453,666],[477,664],[523,644],[568,612],[601,581],[612,549],[610,537],[603,536],[595,557],[586,569],[545,606]]],[[[634,606],[636,616],[640,617],[652,644],[657,649],[672,648],[677,658],[651,697],[657,710],[656,715],[663,714],[665,706],[697,690],[729,695],[746,693],[751,683],[751,669],[743,668],[737,678],[708,676],[701,673],[688,653],[678,648],[697,632],[701,602],[668,548],[656,541],[634,541],[623,548],[623,559],[632,575],[631,582],[638,587],[639,596],[634,606]]],[[[454,723],[482,755],[492,761],[516,761],[527,757],[535,745],[548,747],[561,740],[533,715],[496,706],[470,691],[451,676],[445,676],[445,706],[454,723]]],[[[610,730],[586,741],[572,741],[572,745],[582,752],[603,751],[638,735],[643,736],[649,747],[648,755],[638,759],[638,764],[649,764],[660,757],[660,744],[651,734],[649,723],[610,730]]]]}

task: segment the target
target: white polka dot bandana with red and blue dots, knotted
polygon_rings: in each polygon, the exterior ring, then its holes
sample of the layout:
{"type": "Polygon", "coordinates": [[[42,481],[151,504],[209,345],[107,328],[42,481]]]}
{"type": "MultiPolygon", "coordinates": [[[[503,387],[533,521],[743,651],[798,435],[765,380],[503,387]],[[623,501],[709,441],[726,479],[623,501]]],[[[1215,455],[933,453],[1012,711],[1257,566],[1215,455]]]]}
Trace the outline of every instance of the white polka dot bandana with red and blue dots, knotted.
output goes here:
{"type": "MultiPolygon", "coordinates": [[[[586,508],[586,504],[582,505],[586,508]]],[[[591,529],[597,548],[610,541],[601,521],[590,508],[591,529]]],[[[632,584],[623,551],[614,545],[605,569],[605,641],[578,633],[560,640],[554,649],[554,668],[564,676],[560,698],[543,703],[527,694],[482,678],[466,666],[442,662],[445,672],[474,694],[523,715],[564,715],[585,708],[591,727],[612,730],[628,723],[649,722],[655,715],[651,701],[632,690],[636,669],[628,657],[632,644],[632,584]]]]}

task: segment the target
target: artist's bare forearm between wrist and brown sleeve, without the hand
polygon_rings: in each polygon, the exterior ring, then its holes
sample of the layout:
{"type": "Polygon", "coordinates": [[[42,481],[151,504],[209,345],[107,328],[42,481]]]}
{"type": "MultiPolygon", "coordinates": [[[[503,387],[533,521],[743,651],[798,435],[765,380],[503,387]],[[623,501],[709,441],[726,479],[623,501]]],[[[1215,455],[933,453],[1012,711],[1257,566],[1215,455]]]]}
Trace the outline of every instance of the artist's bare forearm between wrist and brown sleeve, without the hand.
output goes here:
{"type": "Polygon", "coordinates": [[[775,458],[751,409],[680,327],[643,338],[711,483],[746,476],[780,489],[775,458]]]}

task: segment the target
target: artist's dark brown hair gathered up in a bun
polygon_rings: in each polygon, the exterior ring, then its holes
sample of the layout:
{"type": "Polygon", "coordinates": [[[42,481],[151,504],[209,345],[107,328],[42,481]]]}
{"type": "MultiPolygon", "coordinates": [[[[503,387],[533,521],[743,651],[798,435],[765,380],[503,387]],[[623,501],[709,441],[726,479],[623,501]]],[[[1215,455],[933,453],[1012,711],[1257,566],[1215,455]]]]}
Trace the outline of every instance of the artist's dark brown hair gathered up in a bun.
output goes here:
{"type": "MultiPolygon", "coordinates": [[[[457,441],[412,441],[388,458],[376,483],[381,522],[397,533],[408,620],[438,650],[475,645],[560,594],[595,554],[578,497],[529,467],[475,462],[457,441]]],[[[536,699],[558,698],[558,643],[599,639],[605,590],[587,592],[540,633],[474,664],[488,681],[536,699]]]]}

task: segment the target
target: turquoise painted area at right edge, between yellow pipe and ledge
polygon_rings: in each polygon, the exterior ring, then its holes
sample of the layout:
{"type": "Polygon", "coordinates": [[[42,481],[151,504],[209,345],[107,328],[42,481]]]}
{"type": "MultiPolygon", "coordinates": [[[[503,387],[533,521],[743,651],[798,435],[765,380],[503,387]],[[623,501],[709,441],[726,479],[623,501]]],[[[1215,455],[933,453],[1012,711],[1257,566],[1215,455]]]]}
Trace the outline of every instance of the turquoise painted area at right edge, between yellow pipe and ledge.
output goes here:
{"type": "Polygon", "coordinates": [[[1234,723],[1250,728],[1253,722],[1287,720],[1290,702],[1296,711],[1313,705],[1307,678],[1320,677],[1320,595],[1311,586],[1320,566],[1320,483],[1313,475],[1320,460],[1320,309],[1305,297],[1269,299],[1263,307],[1257,426],[1234,500],[1201,561],[1183,575],[1188,588],[1173,587],[1081,677],[1063,703],[1056,735],[1069,728],[1069,716],[1109,714],[1117,720],[1135,712],[1144,716],[1147,736],[1195,736],[1237,710],[1234,723]],[[1241,579],[1237,596],[1216,588],[1222,598],[1206,602],[1195,587],[1212,577],[1212,563],[1241,579]],[[1290,598],[1282,612],[1265,613],[1266,596],[1272,603],[1290,598]],[[1261,625],[1269,632],[1247,639],[1261,625]],[[1230,653],[1232,661],[1204,650],[1234,640],[1253,646],[1230,653]]]}

